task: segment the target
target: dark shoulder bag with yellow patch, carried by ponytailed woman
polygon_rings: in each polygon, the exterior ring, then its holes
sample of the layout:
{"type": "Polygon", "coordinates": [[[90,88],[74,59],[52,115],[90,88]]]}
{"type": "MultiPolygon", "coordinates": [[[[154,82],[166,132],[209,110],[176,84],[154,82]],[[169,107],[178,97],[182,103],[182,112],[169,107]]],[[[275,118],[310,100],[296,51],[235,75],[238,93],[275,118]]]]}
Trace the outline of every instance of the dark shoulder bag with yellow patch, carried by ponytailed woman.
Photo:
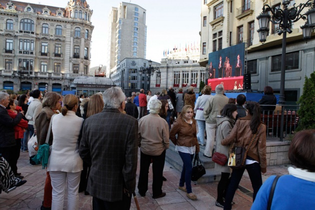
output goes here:
{"type": "Polygon", "coordinates": [[[261,127],[261,124],[262,123],[259,124],[257,132],[252,136],[246,148],[243,146],[234,146],[232,148],[232,153],[229,154],[227,163],[227,165],[230,166],[232,169],[239,169],[245,167],[247,152],[250,146],[252,145],[253,141],[255,140],[257,133],[261,127]]]}

